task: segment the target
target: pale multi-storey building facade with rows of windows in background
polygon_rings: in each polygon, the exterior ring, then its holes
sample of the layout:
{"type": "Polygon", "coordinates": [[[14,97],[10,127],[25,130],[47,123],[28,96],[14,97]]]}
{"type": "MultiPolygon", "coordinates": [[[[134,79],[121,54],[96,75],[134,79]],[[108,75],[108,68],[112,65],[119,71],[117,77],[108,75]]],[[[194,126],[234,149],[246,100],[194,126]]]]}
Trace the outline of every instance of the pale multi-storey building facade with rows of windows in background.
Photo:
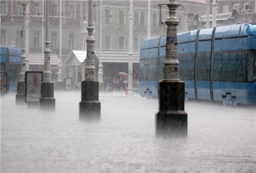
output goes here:
{"type": "MultiPolygon", "coordinates": [[[[163,23],[169,16],[169,9],[165,5],[158,8],[158,4],[168,1],[152,1],[150,8],[150,38],[166,35],[163,23]]],[[[93,1],[93,21],[95,22],[94,49],[99,49],[100,20],[102,21],[102,49],[129,50],[129,14],[130,1],[103,1],[100,11],[100,1],[93,1]],[[101,15],[100,15],[101,13],[101,15]]],[[[133,50],[140,50],[140,44],[148,39],[148,1],[132,1],[133,3],[133,50]]],[[[193,1],[179,1],[182,6],[177,9],[180,21],[178,33],[187,31],[187,10],[202,11],[206,4],[193,1]]],[[[44,54],[46,1],[33,1],[27,5],[27,19],[29,24],[29,54],[44,54]],[[43,29],[42,29],[43,28],[43,29]]],[[[81,32],[84,21],[88,21],[88,1],[62,0],[50,1],[50,32],[51,53],[59,56],[60,52],[60,18],[62,18],[62,60],[66,61],[72,50],[85,50],[86,33],[81,32]]],[[[21,49],[22,40],[22,5],[18,1],[1,0],[1,46],[21,49]]],[[[104,66],[104,64],[103,64],[104,66]]],[[[64,77],[66,69],[63,67],[64,77]]],[[[67,70],[69,71],[69,70],[67,70]]],[[[103,71],[104,72],[104,71],[103,71]]]]}

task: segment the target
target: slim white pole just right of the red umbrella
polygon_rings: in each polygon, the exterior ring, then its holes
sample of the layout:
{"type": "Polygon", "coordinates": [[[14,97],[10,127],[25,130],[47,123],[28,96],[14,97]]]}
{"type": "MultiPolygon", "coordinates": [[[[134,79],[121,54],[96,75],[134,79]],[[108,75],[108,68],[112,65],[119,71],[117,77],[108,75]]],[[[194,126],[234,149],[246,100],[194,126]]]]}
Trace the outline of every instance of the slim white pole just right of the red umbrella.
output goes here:
{"type": "Polygon", "coordinates": [[[132,17],[132,0],[130,0],[130,17],[129,17],[129,60],[128,60],[128,96],[133,95],[132,88],[132,33],[133,33],[133,17],[132,17]]]}

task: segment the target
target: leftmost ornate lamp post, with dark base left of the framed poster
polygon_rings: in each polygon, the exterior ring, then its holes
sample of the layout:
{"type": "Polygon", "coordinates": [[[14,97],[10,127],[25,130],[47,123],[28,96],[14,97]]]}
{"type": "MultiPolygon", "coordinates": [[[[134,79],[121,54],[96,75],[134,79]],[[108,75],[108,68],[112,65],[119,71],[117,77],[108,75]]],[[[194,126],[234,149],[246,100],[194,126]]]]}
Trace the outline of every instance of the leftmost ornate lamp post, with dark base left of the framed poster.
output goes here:
{"type": "Polygon", "coordinates": [[[25,37],[26,37],[26,5],[29,3],[29,1],[19,1],[22,5],[23,11],[23,24],[22,24],[22,47],[21,47],[21,56],[20,56],[20,80],[17,82],[17,94],[16,97],[16,104],[22,104],[25,102],[24,99],[24,91],[25,91],[25,85],[24,85],[24,78],[25,78],[25,59],[26,59],[26,49],[25,49],[25,37]]]}

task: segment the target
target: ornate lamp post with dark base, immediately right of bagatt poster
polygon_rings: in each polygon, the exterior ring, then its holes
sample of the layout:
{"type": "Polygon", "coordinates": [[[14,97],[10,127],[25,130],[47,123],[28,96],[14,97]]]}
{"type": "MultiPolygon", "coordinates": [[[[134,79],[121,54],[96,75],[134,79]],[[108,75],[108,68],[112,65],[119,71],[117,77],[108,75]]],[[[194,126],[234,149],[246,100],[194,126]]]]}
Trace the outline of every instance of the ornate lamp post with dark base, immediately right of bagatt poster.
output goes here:
{"type": "Polygon", "coordinates": [[[50,64],[50,40],[49,40],[49,0],[46,1],[46,32],[44,49],[44,72],[43,82],[41,82],[41,97],[39,99],[40,110],[55,111],[54,84],[52,82],[50,64]]]}

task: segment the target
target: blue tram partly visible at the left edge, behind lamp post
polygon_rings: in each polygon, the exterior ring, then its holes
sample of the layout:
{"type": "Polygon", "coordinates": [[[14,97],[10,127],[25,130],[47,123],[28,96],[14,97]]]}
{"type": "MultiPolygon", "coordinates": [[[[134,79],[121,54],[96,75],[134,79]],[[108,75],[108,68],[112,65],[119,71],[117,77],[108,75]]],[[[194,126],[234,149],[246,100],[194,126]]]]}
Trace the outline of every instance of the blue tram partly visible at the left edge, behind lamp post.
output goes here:
{"type": "Polygon", "coordinates": [[[14,48],[0,48],[1,71],[7,72],[7,91],[16,93],[17,81],[20,79],[20,56],[21,50],[14,48]]]}

